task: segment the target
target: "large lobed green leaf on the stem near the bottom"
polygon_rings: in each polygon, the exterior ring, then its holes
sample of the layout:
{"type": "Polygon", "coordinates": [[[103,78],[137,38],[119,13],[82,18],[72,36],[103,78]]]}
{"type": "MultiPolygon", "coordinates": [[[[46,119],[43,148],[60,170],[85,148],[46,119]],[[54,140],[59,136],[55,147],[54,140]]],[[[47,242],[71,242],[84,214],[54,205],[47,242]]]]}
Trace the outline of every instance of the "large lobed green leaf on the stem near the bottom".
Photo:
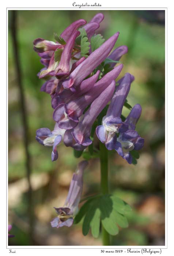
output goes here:
{"type": "Polygon", "coordinates": [[[86,236],[91,229],[92,236],[99,236],[100,222],[106,231],[115,236],[118,234],[118,226],[128,227],[128,221],[124,214],[131,211],[131,207],[111,195],[99,195],[90,198],[80,208],[79,213],[75,217],[75,222],[78,223],[84,216],[82,231],[86,236]]]}

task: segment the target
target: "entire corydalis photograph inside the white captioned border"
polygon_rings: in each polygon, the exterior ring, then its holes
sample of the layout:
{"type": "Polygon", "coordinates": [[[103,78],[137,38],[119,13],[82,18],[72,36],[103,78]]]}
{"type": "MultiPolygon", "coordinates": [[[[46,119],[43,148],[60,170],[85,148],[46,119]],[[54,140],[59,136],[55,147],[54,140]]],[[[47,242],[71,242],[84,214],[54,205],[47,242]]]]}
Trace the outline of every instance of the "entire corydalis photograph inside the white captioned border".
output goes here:
{"type": "Polygon", "coordinates": [[[7,246],[166,246],[166,10],[7,22],[7,246]]]}

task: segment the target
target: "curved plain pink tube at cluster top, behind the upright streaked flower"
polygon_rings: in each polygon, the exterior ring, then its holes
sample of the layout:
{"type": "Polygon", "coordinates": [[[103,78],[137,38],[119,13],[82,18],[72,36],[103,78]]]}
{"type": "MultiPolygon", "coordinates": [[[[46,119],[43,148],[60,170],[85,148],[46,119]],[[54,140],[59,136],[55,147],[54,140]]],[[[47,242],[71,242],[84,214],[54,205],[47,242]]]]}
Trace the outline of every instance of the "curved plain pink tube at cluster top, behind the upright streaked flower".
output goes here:
{"type": "Polygon", "coordinates": [[[67,42],[69,40],[69,38],[71,37],[71,35],[81,26],[86,24],[86,20],[84,19],[79,19],[76,20],[75,22],[71,23],[71,25],[69,25],[62,33],[61,33],[61,37],[65,40],[65,42],[67,42]]]}

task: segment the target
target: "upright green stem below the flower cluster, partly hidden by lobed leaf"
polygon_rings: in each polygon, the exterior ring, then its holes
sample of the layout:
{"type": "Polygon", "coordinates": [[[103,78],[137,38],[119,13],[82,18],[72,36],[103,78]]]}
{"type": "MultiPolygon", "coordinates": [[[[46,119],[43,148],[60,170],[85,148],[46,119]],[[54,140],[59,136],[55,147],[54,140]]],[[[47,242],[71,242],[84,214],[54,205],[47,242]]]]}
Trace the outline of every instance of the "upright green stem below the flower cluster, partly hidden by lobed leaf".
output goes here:
{"type": "MultiPolygon", "coordinates": [[[[100,166],[101,166],[101,192],[102,194],[109,193],[108,188],[108,155],[105,144],[100,142],[100,166]]],[[[110,245],[109,233],[102,225],[102,243],[103,245],[110,245]]]]}

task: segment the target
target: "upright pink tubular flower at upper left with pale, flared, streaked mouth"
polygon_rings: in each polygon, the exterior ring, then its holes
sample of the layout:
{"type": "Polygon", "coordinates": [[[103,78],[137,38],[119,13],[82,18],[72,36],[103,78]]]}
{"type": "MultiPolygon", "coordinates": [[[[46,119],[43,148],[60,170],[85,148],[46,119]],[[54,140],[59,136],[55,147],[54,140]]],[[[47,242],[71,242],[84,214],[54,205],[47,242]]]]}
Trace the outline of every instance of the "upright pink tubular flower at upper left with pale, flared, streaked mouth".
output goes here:
{"type": "Polygon", "coordinates": [[[71,71],[71,53],[74,47],[75,39],[80,34],[79,31],[75,31],[69,38],[65,48],[61,54],[60,63],[58,64],[55,71],[50,72],[51,76],[61,78],[62,76],[68,76],[71,71]]]}

